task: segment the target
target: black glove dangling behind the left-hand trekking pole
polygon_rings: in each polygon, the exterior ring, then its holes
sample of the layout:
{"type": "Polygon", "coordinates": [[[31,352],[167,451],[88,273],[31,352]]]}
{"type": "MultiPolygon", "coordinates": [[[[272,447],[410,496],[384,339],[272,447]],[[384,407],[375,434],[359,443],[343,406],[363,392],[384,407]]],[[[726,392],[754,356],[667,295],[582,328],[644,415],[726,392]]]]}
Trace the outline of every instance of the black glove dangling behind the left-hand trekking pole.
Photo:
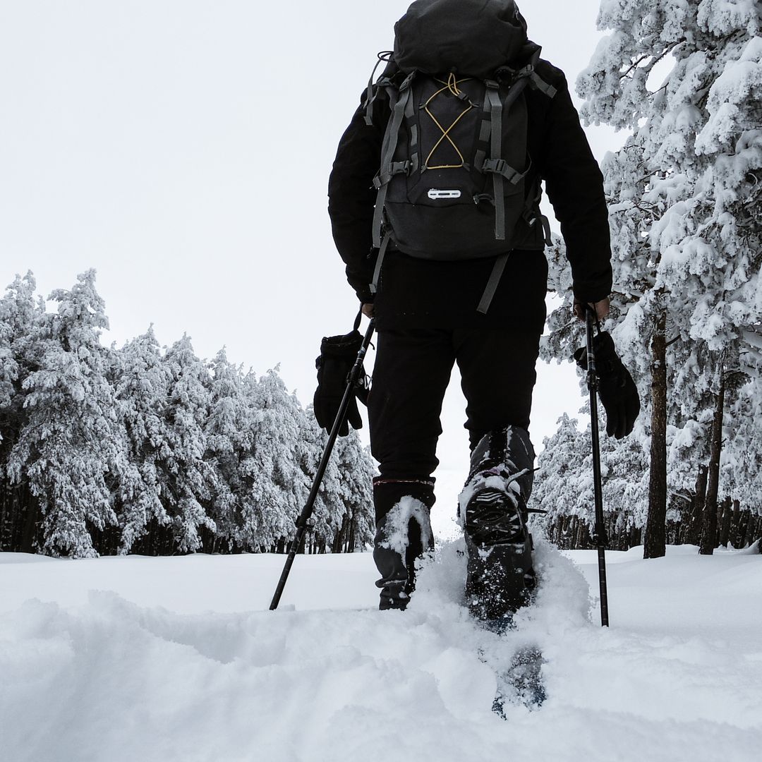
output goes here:
{"type": "MultiPolygon", "coordinates": [[[[315,367],[318,369],[318,388],[315,389],[315,399],[312,404],[318,425],[325,431],[331,431],[338,415],[338,408],[341,407],[341,400],[344,398],[344,391],[349,383],[349,374],[362,344],[363,337],[360,331],[356,330],[344,336],[327,336],[320,344],[320,357],[315,360],[315,367]]],[[[366,405],[367,395],[365,368],[361,367],[354,395],[349,400],[347,416],[344,421],[341,421],[341,427],[338,430],[340,437],[346,437],[349,434],[347,421],[353,428],[363,427],[363,419],[360,418],[356,398],[366,405]]]]}

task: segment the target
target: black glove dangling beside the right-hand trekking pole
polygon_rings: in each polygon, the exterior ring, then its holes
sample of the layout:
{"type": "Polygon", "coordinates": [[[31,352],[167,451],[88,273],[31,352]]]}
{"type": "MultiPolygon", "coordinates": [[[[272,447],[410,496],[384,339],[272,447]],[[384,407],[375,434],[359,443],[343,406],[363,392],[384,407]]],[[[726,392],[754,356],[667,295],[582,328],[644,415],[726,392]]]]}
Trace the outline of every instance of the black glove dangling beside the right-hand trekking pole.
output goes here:
{"type": "MultiPolygon", "coordinates": [[[[594,336],[593,349],[598,396],[606,411],[606,433],[622,439],[632,431],[640,412],[638,388],[616,354],[610,333],[601,331],[594,336]]],[[[582,370],[588,370],[587,347],[579,347],[574,359],[582,370]]]]}

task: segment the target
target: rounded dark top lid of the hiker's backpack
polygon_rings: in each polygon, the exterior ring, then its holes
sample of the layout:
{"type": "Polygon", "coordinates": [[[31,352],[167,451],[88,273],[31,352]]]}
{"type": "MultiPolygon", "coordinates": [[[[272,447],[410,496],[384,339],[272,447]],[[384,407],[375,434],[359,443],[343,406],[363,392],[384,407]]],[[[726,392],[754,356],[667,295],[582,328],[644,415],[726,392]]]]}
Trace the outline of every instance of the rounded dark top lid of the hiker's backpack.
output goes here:
{"type": "Polygon", "coordinates": [[[416,0],[394,31],[394,60],[405,73],[488,78],[536,50],[514,0],[416,0]]]}

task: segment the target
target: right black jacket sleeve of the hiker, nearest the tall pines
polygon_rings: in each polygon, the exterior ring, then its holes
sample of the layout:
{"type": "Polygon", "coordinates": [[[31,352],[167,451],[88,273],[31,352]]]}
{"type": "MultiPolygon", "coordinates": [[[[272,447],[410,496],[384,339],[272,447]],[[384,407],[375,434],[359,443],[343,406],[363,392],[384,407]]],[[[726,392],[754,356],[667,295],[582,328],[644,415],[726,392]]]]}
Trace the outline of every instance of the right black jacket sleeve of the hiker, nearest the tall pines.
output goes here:
{"type": "Polygon", "coordinates": [[[611,239],[604,178],[566,79],[557,85],[546,119],[546,152],[540,171],[561,223],[574,293],[581,302],[599,302],[611,292],[611,239]]]}

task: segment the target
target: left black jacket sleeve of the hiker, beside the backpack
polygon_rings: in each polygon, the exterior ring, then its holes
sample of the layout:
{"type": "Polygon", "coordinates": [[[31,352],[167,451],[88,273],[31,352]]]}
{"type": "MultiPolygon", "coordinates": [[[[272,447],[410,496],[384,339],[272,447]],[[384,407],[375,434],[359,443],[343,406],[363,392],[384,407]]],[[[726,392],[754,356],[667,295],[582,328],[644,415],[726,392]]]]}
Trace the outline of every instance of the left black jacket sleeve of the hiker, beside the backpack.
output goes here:
{"type": "Polygon", "coordinates": [[[370,126],[364,117],[365,106],[361,104],[338,144],[328,180],[328,215],[336,248],[347,265],[347,280],[360,302],[367,303],[373,301],[370,281],[375,261],[373,178],[381,163],[383,136],[375,114],[370,126]]]}

